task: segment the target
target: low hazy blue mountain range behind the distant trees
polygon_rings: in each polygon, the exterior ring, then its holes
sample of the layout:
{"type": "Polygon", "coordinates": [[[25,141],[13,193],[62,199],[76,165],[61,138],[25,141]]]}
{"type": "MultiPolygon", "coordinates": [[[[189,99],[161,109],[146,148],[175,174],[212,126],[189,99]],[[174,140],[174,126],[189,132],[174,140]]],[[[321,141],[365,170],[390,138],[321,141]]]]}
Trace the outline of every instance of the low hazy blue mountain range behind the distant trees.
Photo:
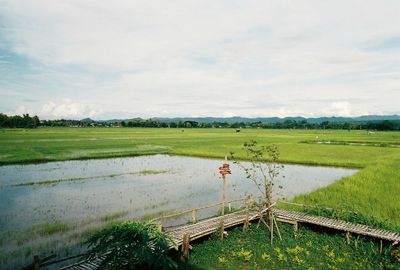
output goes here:
{"type": "MultiPolygon", "coordinates": [[[[213,123],[213,122],[221,122],[221,123],[282,123],[287,120],[294,121],[307,121],[309,123],[322,123],[322,122],[366,122],[366,121],[383,121],[383,120],[397,120],[400,121],[400,115],[364,115],[357,117],[317,117],[317,118],[305,118],[305,117],[256,117],[256,118],[247,118],[247,117],[173,117],[173,118],[164,118],[164,117],[153,117],[148,118],[151,120],[157,120],[159,122],[171,123],[171,122],[185,122],[185,121],[195,121],[199,123],[213,123]]],[[[109,120],[99,120],[97,122],[121,122],[121,121],[135,121],[135,120],[145,120],[144,118],[130,118],[130,119],[109,119],[109,120]]],[[[83,122],[96,122],[90,118],[82,119],[83,122]]]]}

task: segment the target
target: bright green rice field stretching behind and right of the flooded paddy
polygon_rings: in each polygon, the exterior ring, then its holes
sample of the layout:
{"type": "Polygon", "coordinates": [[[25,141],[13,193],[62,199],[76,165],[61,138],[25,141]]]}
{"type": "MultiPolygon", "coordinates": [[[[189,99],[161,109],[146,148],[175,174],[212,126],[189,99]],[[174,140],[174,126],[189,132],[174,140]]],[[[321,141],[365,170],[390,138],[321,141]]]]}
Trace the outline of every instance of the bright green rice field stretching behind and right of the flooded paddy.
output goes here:
{"type": "Polygon", "coordinates": [[[345,208],[399,230],[399,132],[332,130],[38,128],[0,130],[0,164],[106,158],[154,153],[245,158],[245,141],[276,144],[285,163],[362,168],[295,202],[345,208]],[[318,138],[318,139],[317,139],[318,138]],[[317,141],[376,143],[384,146],[317,144],[317,141]]]}

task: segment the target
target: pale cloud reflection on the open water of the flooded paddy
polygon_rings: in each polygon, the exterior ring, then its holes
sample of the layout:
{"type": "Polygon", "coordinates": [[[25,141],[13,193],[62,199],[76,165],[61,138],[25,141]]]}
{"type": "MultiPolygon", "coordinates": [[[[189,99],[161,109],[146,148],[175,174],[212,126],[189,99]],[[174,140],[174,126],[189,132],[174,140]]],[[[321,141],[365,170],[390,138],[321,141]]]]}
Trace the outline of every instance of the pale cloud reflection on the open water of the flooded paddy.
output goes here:
{"type": "MultiPolygon", "coordinates": [[[[38,179],[92,177],[144,170],[172,173],[126,174],[104,179],[100,177],[95,181],[59,183],[56,186],[6,186],[0,190],[0,203],[7,205],[6,209],[0,209],[1,219],[7,220],[2,229],[54,219],[77,221],[122,210],[129,211],[132,218],[139,218],[157,211],[215,203],[221,197],[222,181],[218,174],[221,163],[223,161],[214,159],[155,155],[4,166],[0,168],[0,175],[8,185],[38,179]]],[[[281,196],[292,197],[326,186],[354,172],[286,165],[277,179],[275,190],[282,185],[279,190],[281,196]]],[[[245,178],[237,165],[232,165],[232,175],[228,175],[227,179],[227,200],[243,197],[246,192],[258,195],[254,184],[245,178]]]]}

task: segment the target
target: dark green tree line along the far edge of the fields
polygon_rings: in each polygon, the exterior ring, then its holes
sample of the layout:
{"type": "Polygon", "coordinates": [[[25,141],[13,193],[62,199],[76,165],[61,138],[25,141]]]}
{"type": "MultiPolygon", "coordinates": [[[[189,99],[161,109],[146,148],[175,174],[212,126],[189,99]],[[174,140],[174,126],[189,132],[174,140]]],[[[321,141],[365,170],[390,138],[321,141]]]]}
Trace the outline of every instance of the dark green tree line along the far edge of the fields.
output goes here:
{"type": "Polygon", "coordinates": [[[400,130],[399,120],[383,121],[354,121],[354,122],[318,122],[312,123],[307,120],[285,120],[283,122],[212,122],[204,123],[197,121],[164,122],[153,119],[135,119],[125,121],[95,121],[83,120],[39,120],[38,116],[31,117],[29,114],[22,116],[7,116],[0,113],[0,127],[2,128],[36,128],[44,127],[148,127],[148,128],[263,128],[263,129],[344,129],[344,130],[400,130]]]}

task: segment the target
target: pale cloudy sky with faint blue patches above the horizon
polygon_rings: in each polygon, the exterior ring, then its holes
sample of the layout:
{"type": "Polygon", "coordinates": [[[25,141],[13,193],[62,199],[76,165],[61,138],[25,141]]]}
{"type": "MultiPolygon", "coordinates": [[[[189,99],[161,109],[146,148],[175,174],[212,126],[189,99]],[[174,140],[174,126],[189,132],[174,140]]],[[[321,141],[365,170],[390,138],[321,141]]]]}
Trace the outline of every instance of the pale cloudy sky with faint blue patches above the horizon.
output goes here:
{"type": "Polygon", "coordinates": [[[0,0],[0,112],[400,114],[398,0],[0,0]]]}

